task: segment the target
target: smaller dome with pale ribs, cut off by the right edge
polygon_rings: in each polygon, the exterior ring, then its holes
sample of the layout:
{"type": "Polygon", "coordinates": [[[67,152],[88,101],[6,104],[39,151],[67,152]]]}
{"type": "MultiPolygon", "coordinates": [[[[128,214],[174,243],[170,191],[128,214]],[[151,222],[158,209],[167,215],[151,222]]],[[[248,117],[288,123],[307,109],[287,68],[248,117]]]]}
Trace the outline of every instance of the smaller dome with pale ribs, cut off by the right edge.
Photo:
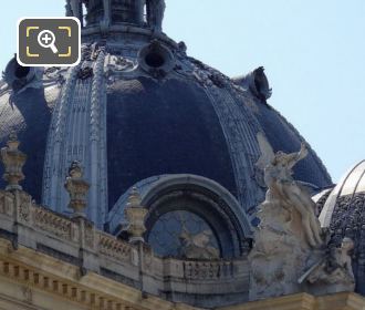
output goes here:
{"type": "Polygon", "coordinates": [[[322,227],[331,231],[331,244],[337,247],[344,237],[355,241],[353,269],[356,291],[365,293],[365,161],[352,167],[322,199],[322,227]]]}

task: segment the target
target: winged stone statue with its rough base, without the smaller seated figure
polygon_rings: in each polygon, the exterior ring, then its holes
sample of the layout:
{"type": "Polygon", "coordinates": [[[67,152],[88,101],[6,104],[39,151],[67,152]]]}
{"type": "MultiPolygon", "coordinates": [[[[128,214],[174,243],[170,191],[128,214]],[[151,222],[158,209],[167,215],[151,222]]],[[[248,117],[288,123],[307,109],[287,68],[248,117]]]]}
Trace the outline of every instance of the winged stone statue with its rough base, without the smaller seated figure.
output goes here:
{"type": "Polygon", "coordinates": [[[302,291],[298,279],[309,261],[320,259],[324,246],[315,205],[292,178],[292,168],[307,153],[305,145],[299,153],[274,154],[265,137],[259,135],[262,156],[258,166],[264,170],[268,192],[259,206],[260,225],[249,255],[250,300],[302,291]]]}

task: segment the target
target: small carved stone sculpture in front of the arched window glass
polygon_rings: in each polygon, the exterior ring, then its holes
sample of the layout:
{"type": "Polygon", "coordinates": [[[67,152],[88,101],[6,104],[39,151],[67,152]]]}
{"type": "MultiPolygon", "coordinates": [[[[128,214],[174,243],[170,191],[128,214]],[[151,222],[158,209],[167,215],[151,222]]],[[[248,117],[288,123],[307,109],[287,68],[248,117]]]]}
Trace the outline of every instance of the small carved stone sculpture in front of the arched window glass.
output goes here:
{"type": "Polygon", "coordinates": [[[188,259],[218,259],[219,251],[209,246],[211,236],[210,230],[204,230],[192,235],[184,228],[180,235],[181,254],[188,259]]]}

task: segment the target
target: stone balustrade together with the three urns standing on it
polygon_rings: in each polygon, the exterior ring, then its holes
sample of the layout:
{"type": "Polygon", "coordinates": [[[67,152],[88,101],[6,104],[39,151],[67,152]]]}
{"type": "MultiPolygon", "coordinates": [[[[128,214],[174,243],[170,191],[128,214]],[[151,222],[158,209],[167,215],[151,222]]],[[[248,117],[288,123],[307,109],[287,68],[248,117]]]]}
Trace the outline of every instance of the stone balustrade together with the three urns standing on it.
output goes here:
{"type": "MultiPolygon", "coordinates": [[[[97,230],[85,217],[90,185],[83,178],[79,162],[73,162],[65,182],[70,194],[69,206],[73,210],[71,217],[36,205],[19,185],[24,177],[22,166],[27,156],[18,149],[18,145],[17,137],[10,137],[8,147],[1,149],[0,158],[8,182],[6,190],[0,190],[0,241],[8,239],[12,245],[10,251],[34,250],[48,258],[71,264],[76,270],[79,268],[81,279],[90,275],[103,276],[171,301],[205,307],[210,302],[217,307],[228,304],[230,297],[236,303],[248,300],[247,258],[208,261],[155,256],[144,240],[148,210],[140,205],[136,189],[128,197],[125,209],[128,239],[122,240],[97,230]],[[199,298],[201,294],[209,296],[209,300],[199,298]]],[[[8,269],[4,265],[3,272],[8,269]]],[[[79,296],[76,289],[73,293],[79,296]]],[[[113,304],[114,301],[109,302],[113,304]]],[[[94,301],[91,303],[96,304],[94,301]]]]}

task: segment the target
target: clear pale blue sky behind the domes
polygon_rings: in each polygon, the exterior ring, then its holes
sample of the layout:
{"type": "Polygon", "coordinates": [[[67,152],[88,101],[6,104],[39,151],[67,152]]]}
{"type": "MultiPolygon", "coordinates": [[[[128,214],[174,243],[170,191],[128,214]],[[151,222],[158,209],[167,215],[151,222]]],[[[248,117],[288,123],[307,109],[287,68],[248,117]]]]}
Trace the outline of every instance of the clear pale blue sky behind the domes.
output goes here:
{"type": "MultiPolygon", "coordinates": [[[[12,0],[0,19],[0,69],[21,17],[63,16],[62,0],[12,0]],[[52,4],[50,4],[52,3],[52,4]]],[[[263,65],[279,110],[334,182],[365,158],[364,0],[166,0],[165,32],[229,76],[263,65]]]]}

